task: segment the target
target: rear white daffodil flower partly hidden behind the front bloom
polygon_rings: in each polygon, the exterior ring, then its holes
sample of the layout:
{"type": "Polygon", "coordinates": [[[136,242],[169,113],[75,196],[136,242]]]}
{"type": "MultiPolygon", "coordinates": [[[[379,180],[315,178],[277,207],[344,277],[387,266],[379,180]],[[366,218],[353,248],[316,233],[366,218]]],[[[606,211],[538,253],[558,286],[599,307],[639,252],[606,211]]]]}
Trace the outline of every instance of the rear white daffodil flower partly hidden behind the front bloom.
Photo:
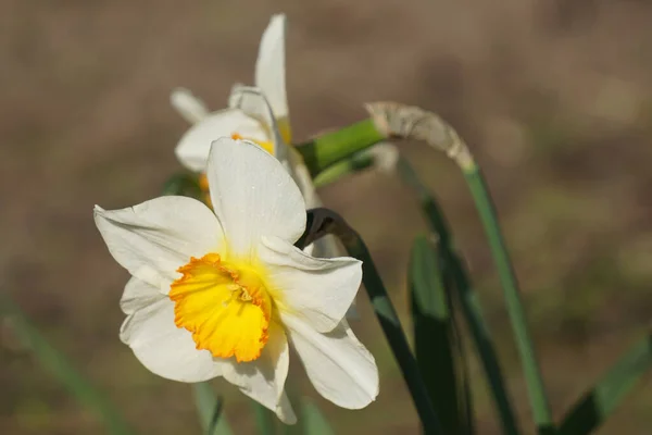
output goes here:
{"type": "MultiPolygon", "coordinates": [[[[176,89],[172,104],[188,122],[195,124],[179,140],[176,156],[195,172],[205,169],[210,145],[222,136],[255,141],[276,157],[290,173],[309,209],[321,207],[312,177],[301,154],[291,145],[285,71],[284,14],[274,15],[261,39],[255,64],[255,87],[235,85],[228,108],[210,113],[205,104],[187,89],[176,89]]],[[[205,178],[202,178],[205,179],[205,178]]],[[[205,182],[203,187],[208,187],[205,182]]],[[[331,236],[306,247],[316,257],[337,257],[342,250],[331,236]]]]}

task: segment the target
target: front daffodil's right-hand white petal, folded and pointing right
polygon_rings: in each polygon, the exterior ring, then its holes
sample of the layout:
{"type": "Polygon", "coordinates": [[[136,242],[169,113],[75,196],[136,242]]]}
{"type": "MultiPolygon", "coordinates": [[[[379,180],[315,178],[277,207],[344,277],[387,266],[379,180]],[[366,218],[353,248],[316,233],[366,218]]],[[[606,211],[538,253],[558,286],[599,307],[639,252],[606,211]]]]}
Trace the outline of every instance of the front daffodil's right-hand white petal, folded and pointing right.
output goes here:
{"type": "Polygon", "coordinates": [[[336,327],[362,281],[362,262],[349,257],[319,259],[278,238],[264,237],[259,248],[279,293],[280,311],[289,311],[319,332],[336,327]]]}

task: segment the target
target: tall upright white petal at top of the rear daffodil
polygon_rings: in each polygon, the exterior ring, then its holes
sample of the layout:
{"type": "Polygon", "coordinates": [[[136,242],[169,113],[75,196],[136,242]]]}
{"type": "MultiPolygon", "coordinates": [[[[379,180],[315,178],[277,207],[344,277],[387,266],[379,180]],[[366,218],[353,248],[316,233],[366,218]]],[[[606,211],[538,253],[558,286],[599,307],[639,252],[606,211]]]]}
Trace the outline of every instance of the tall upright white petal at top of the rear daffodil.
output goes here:
{"type": "Polygon", "coordinates": [[[263,89],[276,117],[288,116],[285,73],[285,28],[284,14],[272,16],[261,39],[255,62],[255,86],[263,89]]]}

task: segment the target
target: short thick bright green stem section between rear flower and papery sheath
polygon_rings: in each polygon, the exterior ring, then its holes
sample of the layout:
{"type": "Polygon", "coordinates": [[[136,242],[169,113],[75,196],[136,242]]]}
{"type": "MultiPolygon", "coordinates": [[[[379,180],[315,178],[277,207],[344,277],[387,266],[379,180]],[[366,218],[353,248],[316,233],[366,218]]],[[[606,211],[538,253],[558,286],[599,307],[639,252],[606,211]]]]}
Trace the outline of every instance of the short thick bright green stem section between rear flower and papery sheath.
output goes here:
{"type": "Polygon", "coordinates": [[[333,133],[326,133],[297,146],[314,177],[326,167],[385,139],[372,120],[364,120],[333,133]]]}

